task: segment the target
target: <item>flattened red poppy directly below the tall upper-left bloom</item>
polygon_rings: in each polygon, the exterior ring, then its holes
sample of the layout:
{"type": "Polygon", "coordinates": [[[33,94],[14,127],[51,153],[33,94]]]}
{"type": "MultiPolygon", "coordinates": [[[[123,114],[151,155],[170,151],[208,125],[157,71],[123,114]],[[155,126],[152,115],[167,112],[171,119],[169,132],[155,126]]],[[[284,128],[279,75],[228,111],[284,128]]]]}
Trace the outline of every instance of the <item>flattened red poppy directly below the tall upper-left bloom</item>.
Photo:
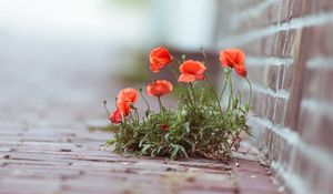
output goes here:
{"type": "Polygon", "coordinates": [[[157,80],[147,86],[147,93],[151,96],[162,96],[170,93],[173,89],[172,83],[167,80],[157,80]]]}

